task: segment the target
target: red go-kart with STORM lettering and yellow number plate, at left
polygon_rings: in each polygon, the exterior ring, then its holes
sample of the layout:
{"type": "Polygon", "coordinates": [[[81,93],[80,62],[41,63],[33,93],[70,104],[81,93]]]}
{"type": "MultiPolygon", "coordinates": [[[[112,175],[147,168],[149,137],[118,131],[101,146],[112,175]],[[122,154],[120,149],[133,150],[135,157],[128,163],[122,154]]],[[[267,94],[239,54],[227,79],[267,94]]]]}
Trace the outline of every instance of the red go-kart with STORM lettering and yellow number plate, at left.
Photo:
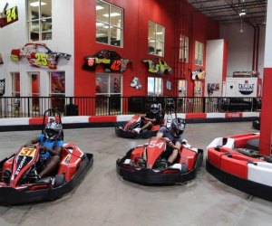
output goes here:
{"type": "MultiPolygon", "coordinates": [[[[57,112],[48,109],[46,113],[57,112]]],[[[60,120],[58,113],[56,117],[60,120]]],[[[80,183],[84,174],[93,164],[93,155],[73,144],[64,144],[58,168],[50,176],[40,179],[39,144],[24,145],[17,154],[11,155],[0,162],[0,204],[22,204],[55,200],[68,193],[80,183]]]]}

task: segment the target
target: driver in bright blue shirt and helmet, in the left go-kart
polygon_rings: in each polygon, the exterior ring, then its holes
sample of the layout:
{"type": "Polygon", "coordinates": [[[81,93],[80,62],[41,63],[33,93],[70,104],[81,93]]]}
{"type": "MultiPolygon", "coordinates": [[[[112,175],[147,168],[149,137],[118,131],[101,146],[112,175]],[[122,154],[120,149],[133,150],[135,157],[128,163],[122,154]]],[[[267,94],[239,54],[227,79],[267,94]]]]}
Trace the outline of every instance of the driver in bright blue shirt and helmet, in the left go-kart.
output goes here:
{"type": "Polygon", "coordinates": [[[39,162],[42,168],[40,178],[51,174],[61,160],[63,148],[63,126],[51,119],[44,128],[44,133],[30,141],[30,144],[39,143],[40,157],[39,162]]]}

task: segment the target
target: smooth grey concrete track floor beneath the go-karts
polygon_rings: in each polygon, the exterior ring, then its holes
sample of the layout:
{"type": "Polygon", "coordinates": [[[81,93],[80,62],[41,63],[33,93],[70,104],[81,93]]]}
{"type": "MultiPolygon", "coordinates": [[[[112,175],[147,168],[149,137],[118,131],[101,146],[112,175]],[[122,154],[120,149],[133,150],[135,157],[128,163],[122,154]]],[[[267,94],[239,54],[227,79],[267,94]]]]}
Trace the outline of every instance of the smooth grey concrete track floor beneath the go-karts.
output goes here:
{"type": "MultiPolygon", "coordinates": [[[[39,131],[0,133],[0,158],[18,150],[39,131]]],[[[245,132],[250,122],[189,124],[185,137],[206,149],[214,137],[245,132]]],[[[116,137],[114,128],[67,129],[64,141],[94,155],[94,165],[83,182],[63,198],[32,205],[0,206],[0,225],[231,225],[272,224],[272,202],[220,183],[201,167],[187,184],[143,186],[121,180],[115,161],[132,146],[148,140],[116,137]]],[[[206,150],[205,150],[206,155],[206,150]]]]}

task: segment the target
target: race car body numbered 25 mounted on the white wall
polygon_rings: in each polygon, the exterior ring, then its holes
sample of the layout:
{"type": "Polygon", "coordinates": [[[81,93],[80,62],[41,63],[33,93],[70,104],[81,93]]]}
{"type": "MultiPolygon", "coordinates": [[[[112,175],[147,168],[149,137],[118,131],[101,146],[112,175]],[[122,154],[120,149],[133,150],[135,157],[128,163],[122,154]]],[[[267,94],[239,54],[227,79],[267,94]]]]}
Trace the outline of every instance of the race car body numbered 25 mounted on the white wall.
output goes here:
{"type": "Polygon", "coordinates": [[[52,52],[45,43],[26,43],[22,49],[14,49],[11,52],[11,61],[20,61],[25,56],[29,64],[36,68],[56,70],[60,57],[67,61],[71,55],[63,52],[52,52]]]}

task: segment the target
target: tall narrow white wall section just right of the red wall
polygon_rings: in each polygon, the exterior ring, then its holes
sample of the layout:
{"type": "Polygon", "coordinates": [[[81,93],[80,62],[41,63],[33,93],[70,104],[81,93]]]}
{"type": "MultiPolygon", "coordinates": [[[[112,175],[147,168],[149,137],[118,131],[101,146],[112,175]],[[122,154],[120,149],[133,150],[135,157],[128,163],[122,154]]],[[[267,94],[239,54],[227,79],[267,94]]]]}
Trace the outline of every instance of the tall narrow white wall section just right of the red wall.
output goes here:
{"type": "Polygon", "coordinates": [[[219,90],[213,91],[211,97],[221,97],[223,77],[224,40],[209,40],[206,48],[206,87],[205,96],[208,97],[208,83],[219,83],[219,90]]]}

